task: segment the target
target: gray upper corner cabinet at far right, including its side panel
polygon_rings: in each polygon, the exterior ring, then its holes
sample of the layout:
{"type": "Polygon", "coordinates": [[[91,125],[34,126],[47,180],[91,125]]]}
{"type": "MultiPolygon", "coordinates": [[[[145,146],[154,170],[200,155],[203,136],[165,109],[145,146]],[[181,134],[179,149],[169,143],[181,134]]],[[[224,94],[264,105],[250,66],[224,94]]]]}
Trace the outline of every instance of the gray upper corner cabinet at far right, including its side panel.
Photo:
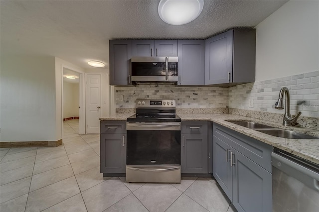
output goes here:
{"type": "Polygon", "coordinates": [[[205,46],[205,85],[255,82],[256,29],[232,29],[205,46]]]}

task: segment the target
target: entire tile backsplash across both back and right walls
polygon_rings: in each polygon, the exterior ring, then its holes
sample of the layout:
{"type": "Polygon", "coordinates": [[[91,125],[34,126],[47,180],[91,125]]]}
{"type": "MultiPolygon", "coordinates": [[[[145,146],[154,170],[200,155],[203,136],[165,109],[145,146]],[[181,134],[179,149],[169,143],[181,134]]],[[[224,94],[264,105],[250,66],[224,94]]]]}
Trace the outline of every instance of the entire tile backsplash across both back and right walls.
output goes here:
{"type": "MultiPolygon", "coordinates": [[[[227,112],[227,107],[283,114],[275,109],[279,91],[290,91],[291,114],[319,118],[319,71],[272,80],[238,85],[230,88],[184,86],[116,87],[117,110],[135,108],[136,99],[174,99],[176,111],[199,108],[204,112],[227,112]],[[206,110],[205,110],[206,108],[206,110]],[[211,109],[225,108],[225,109],[211,109]]],[[[133,110],[132,110],[133,111],[133,110]]]]}

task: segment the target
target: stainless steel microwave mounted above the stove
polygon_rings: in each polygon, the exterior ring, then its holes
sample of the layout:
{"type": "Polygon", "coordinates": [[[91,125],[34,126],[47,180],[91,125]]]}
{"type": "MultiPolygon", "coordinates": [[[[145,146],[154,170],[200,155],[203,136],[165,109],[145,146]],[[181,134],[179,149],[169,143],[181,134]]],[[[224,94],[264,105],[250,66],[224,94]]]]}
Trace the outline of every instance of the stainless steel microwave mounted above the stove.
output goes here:
{"type": "Polygon", "coordinates": [[[177,84],[178,57],[132,57],[132,83],[177,84]]]}

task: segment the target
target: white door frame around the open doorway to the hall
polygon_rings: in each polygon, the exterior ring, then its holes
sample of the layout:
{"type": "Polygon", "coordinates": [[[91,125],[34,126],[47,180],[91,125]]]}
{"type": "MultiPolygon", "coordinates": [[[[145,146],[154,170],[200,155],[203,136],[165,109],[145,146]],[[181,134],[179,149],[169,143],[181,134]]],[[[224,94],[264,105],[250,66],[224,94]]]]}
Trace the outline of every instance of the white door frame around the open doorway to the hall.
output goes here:
{"type": "Polygon", "coordinates": [[[68,67],[61,64],[61,95],[62,95],[62,138],[63,138],[63,73],[64,68],[71,71],[77,72],[79,74],[79,135],[86,134],[85,131],[85,72],[74,69],[73,67],[68,67]]]}

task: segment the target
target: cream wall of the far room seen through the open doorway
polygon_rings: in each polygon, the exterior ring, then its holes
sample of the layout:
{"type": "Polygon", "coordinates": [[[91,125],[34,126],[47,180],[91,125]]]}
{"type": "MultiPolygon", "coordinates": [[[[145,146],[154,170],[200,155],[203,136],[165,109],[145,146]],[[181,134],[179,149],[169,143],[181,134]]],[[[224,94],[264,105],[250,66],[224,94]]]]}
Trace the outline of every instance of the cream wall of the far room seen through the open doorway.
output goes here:
{"type": "Polygon", "coordinates": [[[63,118],[79,116],[79,84],[63,82],[63,118]]]}

